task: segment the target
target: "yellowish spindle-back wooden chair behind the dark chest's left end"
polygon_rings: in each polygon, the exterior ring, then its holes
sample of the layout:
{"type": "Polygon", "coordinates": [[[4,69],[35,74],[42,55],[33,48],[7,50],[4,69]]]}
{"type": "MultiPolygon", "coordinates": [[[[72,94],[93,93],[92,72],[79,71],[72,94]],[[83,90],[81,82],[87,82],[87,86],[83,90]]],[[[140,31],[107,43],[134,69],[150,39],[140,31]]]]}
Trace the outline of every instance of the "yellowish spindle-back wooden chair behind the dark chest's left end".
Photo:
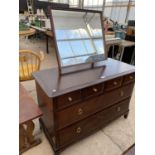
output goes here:
{"type": "Polygon", "coordinates": [[[19,80],[33,80],[32,73],[40,69],[41,61],[44,59],[43,52],[39,54],[30,50],[19,51],[19,80]]]}

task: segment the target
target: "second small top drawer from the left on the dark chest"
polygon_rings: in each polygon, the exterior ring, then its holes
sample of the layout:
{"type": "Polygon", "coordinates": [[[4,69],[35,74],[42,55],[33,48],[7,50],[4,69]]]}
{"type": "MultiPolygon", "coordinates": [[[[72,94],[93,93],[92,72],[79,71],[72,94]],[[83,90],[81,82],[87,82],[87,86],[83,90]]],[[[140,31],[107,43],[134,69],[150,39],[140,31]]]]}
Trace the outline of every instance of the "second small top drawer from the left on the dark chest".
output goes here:
{"type": "Polygon", "coordinates": [[[90,97],[101,94],[103,92],[103,84],[97,84],[82,90],[83,97],[90,97]]]}

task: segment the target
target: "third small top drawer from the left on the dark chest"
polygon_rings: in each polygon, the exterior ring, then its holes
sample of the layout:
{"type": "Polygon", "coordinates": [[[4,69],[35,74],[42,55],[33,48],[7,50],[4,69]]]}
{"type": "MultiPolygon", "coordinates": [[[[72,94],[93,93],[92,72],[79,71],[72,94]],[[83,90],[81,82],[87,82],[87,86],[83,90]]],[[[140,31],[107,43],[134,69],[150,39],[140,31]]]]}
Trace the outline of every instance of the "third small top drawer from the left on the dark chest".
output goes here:
{"type": "Polygon", "coordinates": [[[109,91],[118,88],[122,85],[123,77],[115,78],[105,82],[105,91],[109,91]]]}

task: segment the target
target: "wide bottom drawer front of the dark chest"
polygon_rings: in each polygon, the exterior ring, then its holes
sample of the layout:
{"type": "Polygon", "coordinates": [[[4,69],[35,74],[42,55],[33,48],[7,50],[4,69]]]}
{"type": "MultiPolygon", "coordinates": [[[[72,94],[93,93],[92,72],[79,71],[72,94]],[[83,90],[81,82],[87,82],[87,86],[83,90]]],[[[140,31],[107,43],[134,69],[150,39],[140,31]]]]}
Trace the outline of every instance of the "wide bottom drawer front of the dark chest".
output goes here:
{"type": "Polygon", "coordinates": [[[58,132],[59,147],[65,146],[79,140],[86,135],[102,128],[104,125],[121,116],[128,111],[129,100],[114,105],[104,111],[101,111],[87,119],[75,123],[58,132]]]}

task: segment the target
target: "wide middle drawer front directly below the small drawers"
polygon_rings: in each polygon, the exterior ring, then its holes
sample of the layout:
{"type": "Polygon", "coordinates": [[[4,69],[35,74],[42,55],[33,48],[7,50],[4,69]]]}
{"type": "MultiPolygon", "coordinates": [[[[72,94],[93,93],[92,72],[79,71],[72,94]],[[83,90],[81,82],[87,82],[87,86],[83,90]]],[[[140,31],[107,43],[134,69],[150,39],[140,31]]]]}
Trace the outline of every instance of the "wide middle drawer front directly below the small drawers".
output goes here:
{"type": "Polygon", "coordinates": [[[73,105],[62,111],[56,112],[57,129],[62,129],[76,121],[86,118],[104,108],[120,102],[131,96],[133,84],[107,92],[79,104],[73,105]]]}

